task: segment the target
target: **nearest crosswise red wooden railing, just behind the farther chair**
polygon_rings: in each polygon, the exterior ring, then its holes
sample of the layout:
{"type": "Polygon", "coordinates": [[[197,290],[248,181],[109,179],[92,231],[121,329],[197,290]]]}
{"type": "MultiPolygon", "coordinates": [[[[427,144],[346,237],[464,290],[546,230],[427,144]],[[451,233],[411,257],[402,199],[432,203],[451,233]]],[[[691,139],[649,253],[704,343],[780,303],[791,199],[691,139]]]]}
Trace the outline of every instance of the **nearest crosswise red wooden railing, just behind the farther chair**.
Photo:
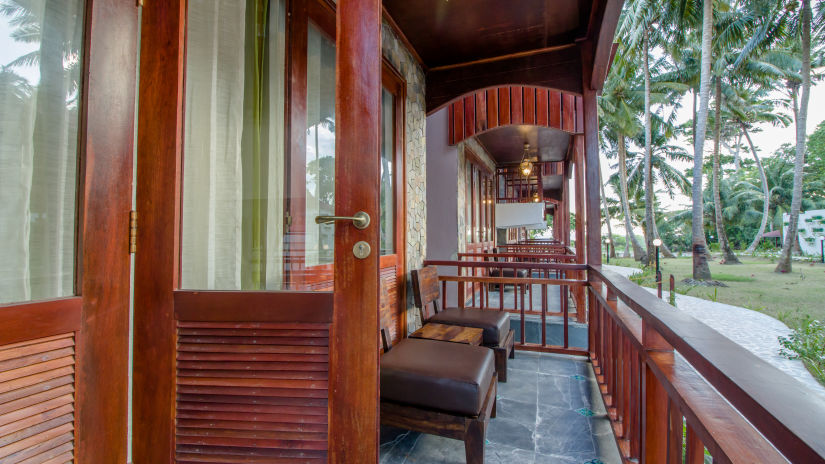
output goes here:
{"type": "MultiPolygon", "coordinates": [[[[538,256],[534,258],[555,259],[538,256]]],[[[536,261],[438,260],[427,260],[424,265],[457,270],[454,275],[439,276],[442,308],[475,308],[518,314],[520,333],[516,339],[516,347],[519,349],[587,355],[586,341],[578,346],[572,346],[570,326],[571,319],[574,322],[586,323],[586,310],[584,307],[576,307],[571,314],[569,305],[571,289],[584,289],[587,285],[586,280],[570,278],[569,275],[583,273],[587,269],[586,265],[536,261]],[[491,276],[495,274],[494,271],[498,271],[497,276],[491,276]],[[513,276],[518,276],[519,271],[524,271],[525,276],[507,277],[504,275],[505,271],[511,271],[513,276]],[[473,290],[467,292],[468,286],[472,286],[473,290]],[[551,300],[551,289],[556,288],[559,295],[557,306],[552,304],[551,300]],[[509,289],[513,290],[512,299],[508,298],[509,289]],[[469,297],[464,297],[465,295],[469,297]],[[533,321],[540,322],[536,341],[528,340],[528,318],[531,319],[531,324],[533,321]],[[548,333],[549,322],[561,326],[560,336],[548,333]],[[553,343],[554,338],[557,343],[553,343]]],[[[582,340],[585,340],[584,336],[582,340]]]]}

